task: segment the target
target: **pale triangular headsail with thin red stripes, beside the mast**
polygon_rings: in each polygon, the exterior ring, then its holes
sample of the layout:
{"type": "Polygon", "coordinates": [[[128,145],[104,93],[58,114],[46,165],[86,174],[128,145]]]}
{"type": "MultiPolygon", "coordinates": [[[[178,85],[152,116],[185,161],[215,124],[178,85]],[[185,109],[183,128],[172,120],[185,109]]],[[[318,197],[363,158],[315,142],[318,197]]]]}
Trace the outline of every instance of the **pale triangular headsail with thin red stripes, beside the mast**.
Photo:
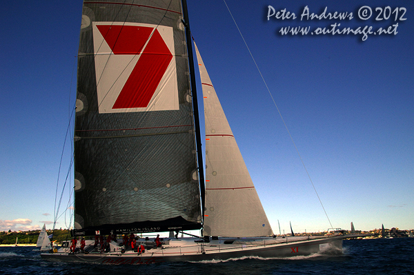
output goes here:
{"type": "Polygon", "coordinates": [[[226,237],[273,235],[197,46],[195,49],[206,119],[204,234],[226,237]]]}

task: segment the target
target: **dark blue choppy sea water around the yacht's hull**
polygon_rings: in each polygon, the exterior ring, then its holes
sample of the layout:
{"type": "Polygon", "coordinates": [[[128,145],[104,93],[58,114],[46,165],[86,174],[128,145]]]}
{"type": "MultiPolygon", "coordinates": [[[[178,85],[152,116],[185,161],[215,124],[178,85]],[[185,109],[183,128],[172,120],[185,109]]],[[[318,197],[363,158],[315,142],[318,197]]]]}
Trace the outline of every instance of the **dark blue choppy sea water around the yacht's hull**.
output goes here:
{"type": "Polygon", "coordinates": [[[414,274],[414,238],[346,240],[334,255],[131,266],[53,263],[34,249],[0,247],[0,274],[414,274]]]}

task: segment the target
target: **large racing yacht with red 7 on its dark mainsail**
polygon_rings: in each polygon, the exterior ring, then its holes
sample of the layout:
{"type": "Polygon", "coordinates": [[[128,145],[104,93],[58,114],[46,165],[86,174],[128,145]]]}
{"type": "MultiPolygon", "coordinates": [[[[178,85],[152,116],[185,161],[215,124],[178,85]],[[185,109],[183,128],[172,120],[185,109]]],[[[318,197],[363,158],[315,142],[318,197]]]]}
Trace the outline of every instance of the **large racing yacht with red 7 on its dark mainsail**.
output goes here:
{"type": "Polygon", "coordinates": [[[138,238],[144,253],[113,240],[103,252],[86,240],[84,253],[63,245],[42,258],[143,264],[342,249],[342,235],[273,235],[196,47],[206,121],[203,165],[186,13],[185,0],[83,2],[72,233],[201,230],[200,237],[166,238],[162,247],[138,238]]]}

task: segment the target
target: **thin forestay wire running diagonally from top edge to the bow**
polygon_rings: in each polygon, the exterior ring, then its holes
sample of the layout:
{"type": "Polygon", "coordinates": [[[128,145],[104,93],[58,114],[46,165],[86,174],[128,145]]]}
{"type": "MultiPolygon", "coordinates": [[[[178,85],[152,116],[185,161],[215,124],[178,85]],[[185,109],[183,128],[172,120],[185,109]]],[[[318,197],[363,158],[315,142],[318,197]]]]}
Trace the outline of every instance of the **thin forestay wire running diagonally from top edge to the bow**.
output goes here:
{"type": "Polygon", "coordinates": [[[324,204],[322,203],[321,198],[319,197],[319,194],[317,193],[316,187],[315,187],[315,185],[313,184],[313,181],[312,181],[312,179],[311,179],[311,175],[309,174],[308,170],[306,169],[306,165],[305,165],[305,163],[304,163],[304,161],[303,161],[303,159],[302,159],[302,156],[299,154],[299,150],[298,150],[298,149],[297,149],[297,147],[296,147],[295,141],[293,141],[293,137],[292,137],[292,135],[290,134],[290,132],[289,132],[289,130],[288,130],[288,126],[286,125],[286,122],[285,122],[285,121],[284,121],[284,119],[283,119],[282,113],[280,112],[279,108],[277,107],[276,101],[275,101],[275,99],[273,98],[273,95],[272,95],[272,93],[270,92],[270,89],[268,88],[268,85],[267,85],[267,83],[266,83],[266,80],[264,80],[263,74],[262,74],[262,72],[261,72],[261,71],[260,71],[260,69],[259,69],[259,65],[257,65],[257,63],[256,63],[256,61],[255,61],[255,58],[253,57],[252,52],[250,52],[250,48],[248,48],[247,42],[246,42],[246,40],[245,40],[245,39],[244,39],[244,37],[243,37],[242,31],[239,29],[239,26],[237,25],[236,20],[235,20],[235,18],[233,17],[233,14],[230,12],[230,8],[228,8],[227,3],[226,3],[226,0],[223,0],[223,1],[224,1],[224,4],[226,5],[226,8],[227,8],[228,12],[230,13],[231,18],[233,19],[233,22],[235,23],[235,26],[236,26],[237,30],[239,31],[240,36],[242,37],[242,39],[243,39],[243,41],[244,41],[244,45],[246,45],[246,48],[247,48],[247,50],[248,50],[248,52],[249,52],[249,54],[250,54],[250,57],[253,59],[253,62],[254,62],[254,63],[255,63],[255,65],[256,65],[256,68],[257,68],[257,71],[258,71],[258,72],[259,72],[259,74],[260,74],[260,77],[262,77],[262,80],[263,80],[263,82],[264,82],[264,85],[266,86],[266,89],[268,90],[268,93],[269,93],[269,95],[270,95],[270,98],[272,99],[273,103],[275,104],[275,107],[276,107],[276,109],[277,109],[277,112],[279,112],[279,116],[280,116],[280,118],[282,119],[282,122],[284,123],[284,126],[285,126],[285,128],[286,128],[286,131],[288,131],[288,134],[289,134],[289,136],[290,136],[290,140],[292,141],[293,145],[295,146],[296,152],[297,152],[297,154],[299,155],[299,159],[300,159],[300,161],[302,162],[302,165],[304,166],[304,169],[305,169],[305,171],[306,171],[306,174],[308,174],[308,178],[309,178],[309,180],[310,180],[310,181],[311,181],[311,183],[312,183],[313,190],[315,190],[315,193],[316,193],[316,196],[317,196],[317,198],[318,198],[318,200],[319,200],[319,203],[322,205],[322,209],[323,209],[323,210],[324,210],[324,212],[325,212],[326,218],[328,218],[328,222],[329,222],[329,224],[331,225],[331,228],[333,228],[332,223],[331,223],[331,220],[329,219],[328,213],[326,213],[326,210],[325,210],[324,204]]]}

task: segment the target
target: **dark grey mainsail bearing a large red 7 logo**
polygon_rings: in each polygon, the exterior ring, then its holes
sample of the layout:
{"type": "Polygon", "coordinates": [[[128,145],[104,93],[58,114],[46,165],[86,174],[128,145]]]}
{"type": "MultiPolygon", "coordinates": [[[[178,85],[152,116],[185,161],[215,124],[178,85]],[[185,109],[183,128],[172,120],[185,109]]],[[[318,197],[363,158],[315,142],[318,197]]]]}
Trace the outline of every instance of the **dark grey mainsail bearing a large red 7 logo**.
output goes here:
{"type": "Polygon", "coordinates": [[[201,227],[181,14],[177,0],[83,2],[75,234],[201,227]]]}

